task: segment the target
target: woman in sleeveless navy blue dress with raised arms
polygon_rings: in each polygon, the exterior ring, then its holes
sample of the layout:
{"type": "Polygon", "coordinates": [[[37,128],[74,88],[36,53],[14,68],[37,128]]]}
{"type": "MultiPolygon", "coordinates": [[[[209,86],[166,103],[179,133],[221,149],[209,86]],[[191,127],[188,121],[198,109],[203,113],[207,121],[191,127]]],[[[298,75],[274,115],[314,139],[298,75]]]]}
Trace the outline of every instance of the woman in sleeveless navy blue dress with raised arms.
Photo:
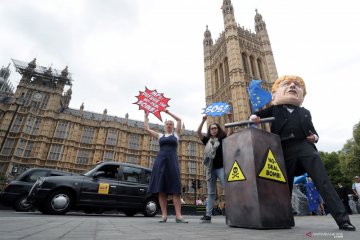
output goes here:
{"type": "Polygon", "coordinates": [[[167,221],[167,196],[173,195],[173,203],[176,213],[176,223],[188,223],[181,215],[181,178],[177,155],[178,141],[181,131],[181,119],[165,110],[165,113],[176,120],[165,121],[165,134],[155,132],[149,127],[149,113],[145,113],[145,131],[155,139],[159,140],[160,150],[151,173],[149,192],[159,194],[159,203],[162,212],[160,223],[167,221]],[[175,130],[175,131],[174,131],[175,130]]]}

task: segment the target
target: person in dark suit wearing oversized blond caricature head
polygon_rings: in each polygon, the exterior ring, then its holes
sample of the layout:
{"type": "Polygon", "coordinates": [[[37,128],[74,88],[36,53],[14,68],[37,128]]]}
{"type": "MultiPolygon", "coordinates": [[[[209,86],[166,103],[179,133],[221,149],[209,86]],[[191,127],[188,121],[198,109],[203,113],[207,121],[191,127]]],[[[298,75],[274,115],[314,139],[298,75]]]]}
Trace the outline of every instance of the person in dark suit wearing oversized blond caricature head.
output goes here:
{"type": "Polygon", "coordinates": [[[319,135],[310,111],[301,106],[306,95],[304,80],[298,76],[282,76],[275,81],[271,94],[272,105],[255,112],[250,119],[258,124],[260,118],[275,117],[271,132],[280,136],[290,194],[294,176],[307,172],[339,228],[355,231],[315,147],[319,135]]]}

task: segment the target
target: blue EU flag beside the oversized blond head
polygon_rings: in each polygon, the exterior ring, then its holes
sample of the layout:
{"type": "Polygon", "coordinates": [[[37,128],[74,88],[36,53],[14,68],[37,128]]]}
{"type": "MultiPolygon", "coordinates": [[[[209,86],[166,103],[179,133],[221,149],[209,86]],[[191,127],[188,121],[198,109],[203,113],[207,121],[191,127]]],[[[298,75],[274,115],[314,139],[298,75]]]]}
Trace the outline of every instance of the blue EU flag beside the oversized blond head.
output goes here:
{"type": "Polygon", "coordinates": [[[261,87],[262,80],[251,80],[248,87],[252,109],[256,112],[258,109],[271,101],[271,93],[261,87]]]}

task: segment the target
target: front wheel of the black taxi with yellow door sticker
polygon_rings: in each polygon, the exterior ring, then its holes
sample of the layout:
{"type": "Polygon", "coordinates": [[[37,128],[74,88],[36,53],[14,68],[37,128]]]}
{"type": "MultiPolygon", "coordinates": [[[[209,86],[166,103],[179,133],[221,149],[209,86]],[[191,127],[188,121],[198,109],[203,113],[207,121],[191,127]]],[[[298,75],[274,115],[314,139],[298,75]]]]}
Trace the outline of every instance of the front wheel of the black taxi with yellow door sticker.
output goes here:
{"type": "Polygon", "coordinates": [[[45,212],[49,214],[65,214],[74,203],[73,195],[67,190],[58,190],[49,195],[45,201],[45,212]]]}

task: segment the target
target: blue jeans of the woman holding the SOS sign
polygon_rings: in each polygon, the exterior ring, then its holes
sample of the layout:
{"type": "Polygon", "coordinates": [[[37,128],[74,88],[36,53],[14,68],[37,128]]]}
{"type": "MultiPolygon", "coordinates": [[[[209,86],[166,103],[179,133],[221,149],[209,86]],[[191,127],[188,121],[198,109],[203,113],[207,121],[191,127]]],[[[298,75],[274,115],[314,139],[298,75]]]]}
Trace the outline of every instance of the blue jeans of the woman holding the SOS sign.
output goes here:
{"type": "Polygon", "coordinates": [[[213,169],[211,178],[207,181],[208,196],[206,200],[206,215],[211,217],[212,209],[215,202],[216,181],[219,178],[222,188],[225,188],[224,168],[213,169]]]}

